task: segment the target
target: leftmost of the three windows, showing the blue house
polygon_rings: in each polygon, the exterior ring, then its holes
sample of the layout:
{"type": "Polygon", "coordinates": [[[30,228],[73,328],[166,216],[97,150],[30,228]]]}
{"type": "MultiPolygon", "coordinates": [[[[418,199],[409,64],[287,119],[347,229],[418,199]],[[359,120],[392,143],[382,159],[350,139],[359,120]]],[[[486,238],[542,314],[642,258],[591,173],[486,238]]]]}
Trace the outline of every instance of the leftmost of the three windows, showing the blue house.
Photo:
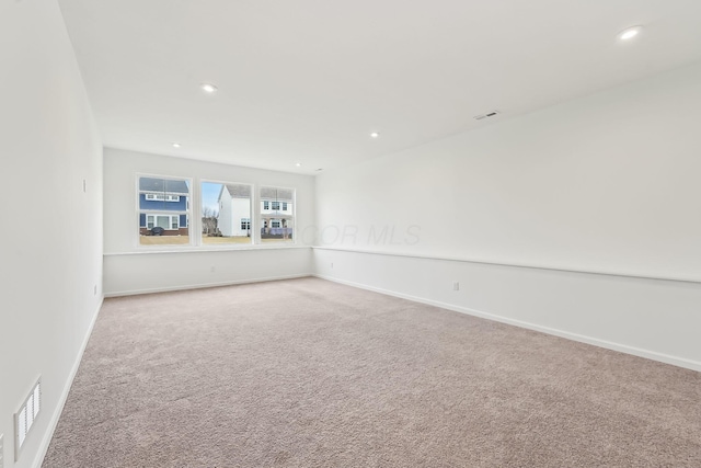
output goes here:
{"type": "Polygon", "coordinates": [[[140,175],[137,181],[139,244],[189,244],[189,180],[140,175]]]}

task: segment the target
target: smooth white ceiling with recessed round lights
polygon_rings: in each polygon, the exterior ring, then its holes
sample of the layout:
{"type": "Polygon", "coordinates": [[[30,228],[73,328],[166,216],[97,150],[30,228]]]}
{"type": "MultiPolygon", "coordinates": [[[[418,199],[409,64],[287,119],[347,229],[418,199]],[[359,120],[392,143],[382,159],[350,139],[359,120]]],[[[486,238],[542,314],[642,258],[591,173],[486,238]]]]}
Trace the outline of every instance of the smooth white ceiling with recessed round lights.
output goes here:
{"type": "Polygon", "coordinates": [[[288,172],[701,60],[699,0],[59,3],[105,146],[288,172]]]}

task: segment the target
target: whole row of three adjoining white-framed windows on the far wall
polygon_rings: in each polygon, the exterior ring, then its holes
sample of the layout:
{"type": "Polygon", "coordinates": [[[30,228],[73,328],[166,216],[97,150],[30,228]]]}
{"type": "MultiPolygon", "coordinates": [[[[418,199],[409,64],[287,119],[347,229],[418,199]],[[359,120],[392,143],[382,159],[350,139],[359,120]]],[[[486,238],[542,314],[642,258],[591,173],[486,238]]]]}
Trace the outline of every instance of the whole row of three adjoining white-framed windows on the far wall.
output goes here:
{"type": "Polygon", "coordinates": [[[295,243],[295,189],[192,183],[187,178],[137,175],[139,246],[295,243]],[[194,207],[193,195],[198,199],[194,207]]]}

